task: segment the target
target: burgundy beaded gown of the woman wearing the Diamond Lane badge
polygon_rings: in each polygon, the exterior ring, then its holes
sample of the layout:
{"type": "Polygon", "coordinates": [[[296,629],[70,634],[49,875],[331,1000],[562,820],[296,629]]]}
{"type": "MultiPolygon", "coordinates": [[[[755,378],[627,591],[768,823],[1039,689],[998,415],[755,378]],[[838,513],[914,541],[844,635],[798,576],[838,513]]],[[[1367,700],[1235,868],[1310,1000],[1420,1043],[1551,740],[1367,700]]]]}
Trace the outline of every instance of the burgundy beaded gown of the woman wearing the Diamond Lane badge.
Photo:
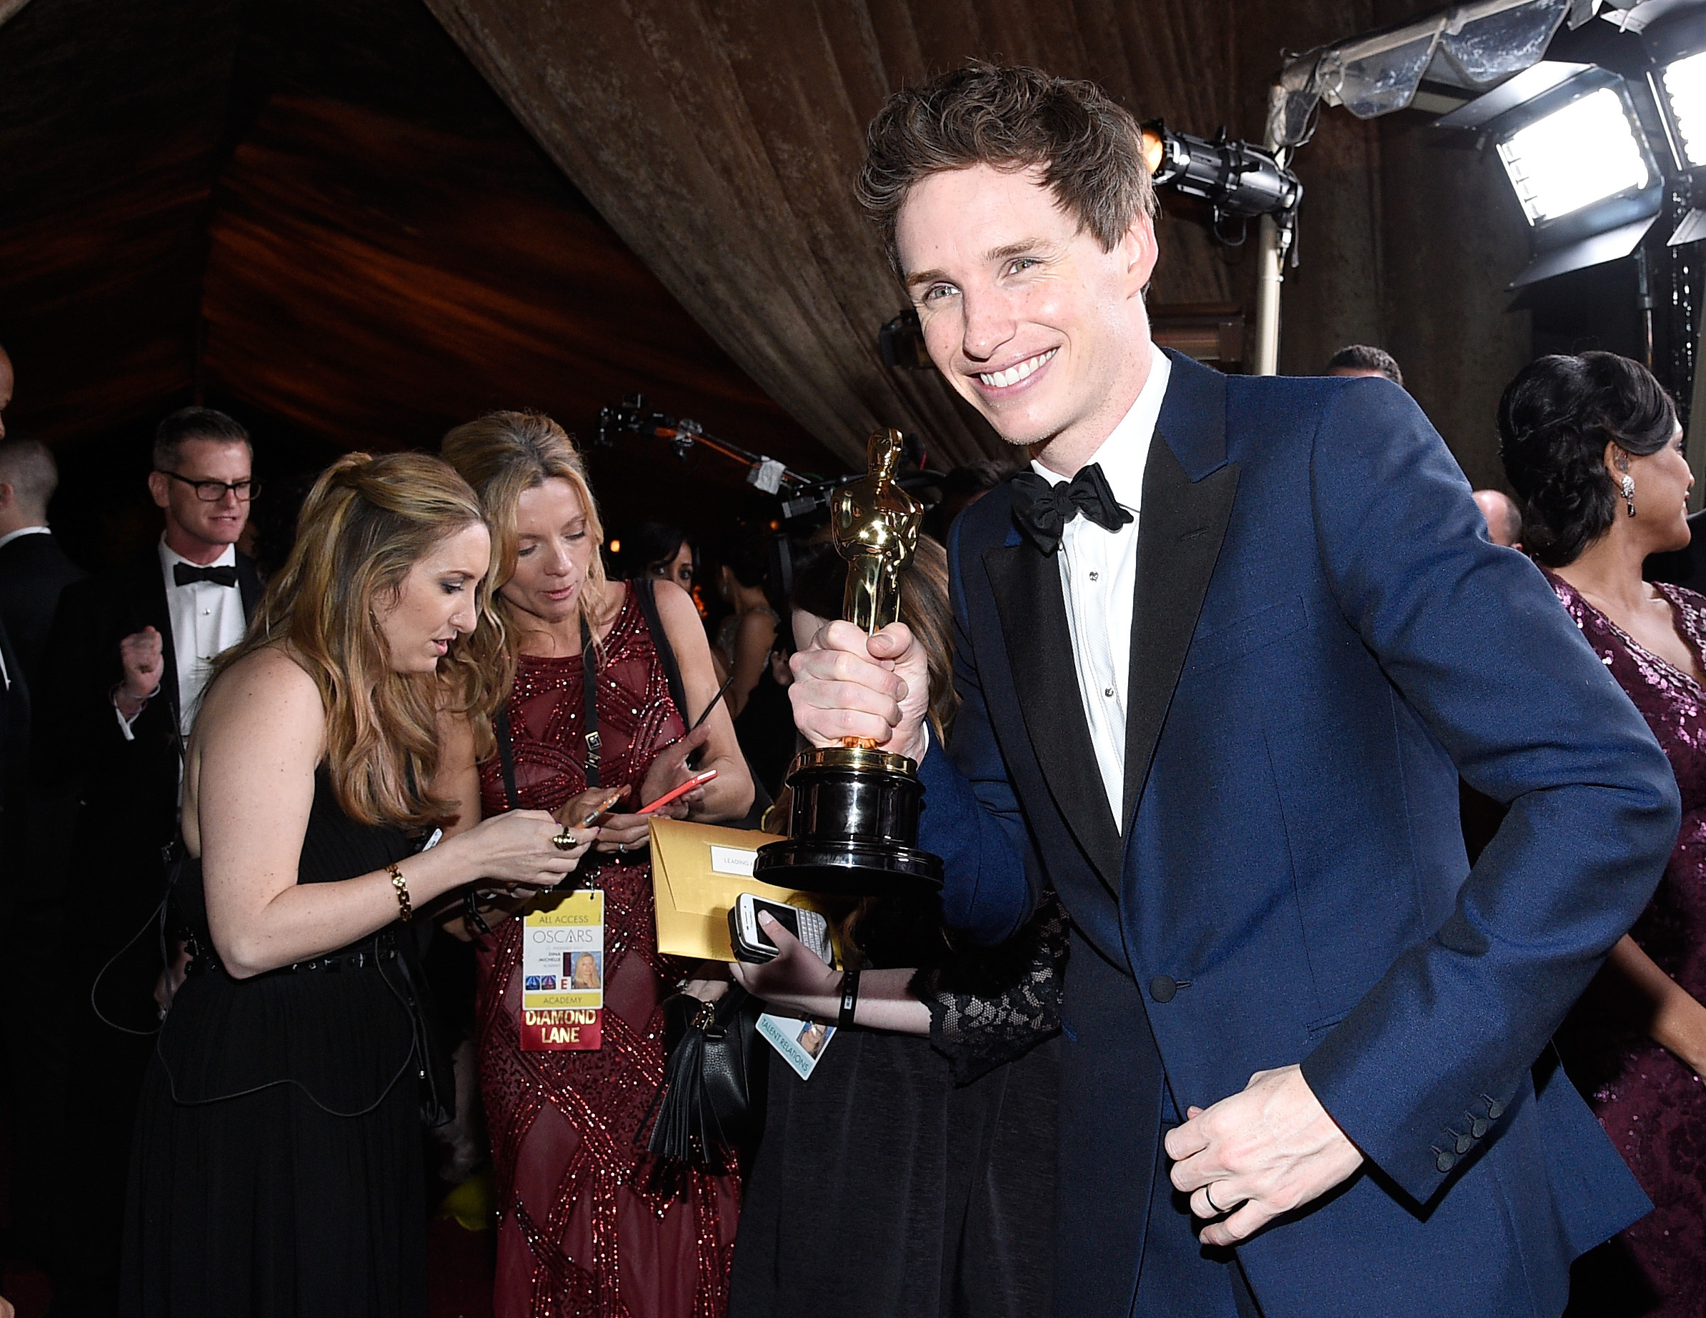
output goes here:
{"type": "MultiPolygon", "coordinates": [[[[515,788],[529,810],[585,791],[580,658],[522,656],[510,696],[515,788]]],[[[599,663],[601,783],[638,784],[681,714],[628,587],[599,663]]],[[[481,808],[507,808],[496,760],[481,808]]],[[[624,800],[633,810],[640,801],[624,800]]],[[[643,853],[641,853],[643,856],[643,853]]],[[[614,859],[614,858],[612,858],[614,859]]],[[[479,953],[479,1074],[496,1161],[496,1318],[718,1318],[739,1214],[734,1176],[693,1173],[670,1197],[648,1185],[635,1132],[664,1078],[659,1003],[686,967],[657,951],[652,866],[606,864],[604,1047],[522,1052],[520,919],[479,953]]]]}

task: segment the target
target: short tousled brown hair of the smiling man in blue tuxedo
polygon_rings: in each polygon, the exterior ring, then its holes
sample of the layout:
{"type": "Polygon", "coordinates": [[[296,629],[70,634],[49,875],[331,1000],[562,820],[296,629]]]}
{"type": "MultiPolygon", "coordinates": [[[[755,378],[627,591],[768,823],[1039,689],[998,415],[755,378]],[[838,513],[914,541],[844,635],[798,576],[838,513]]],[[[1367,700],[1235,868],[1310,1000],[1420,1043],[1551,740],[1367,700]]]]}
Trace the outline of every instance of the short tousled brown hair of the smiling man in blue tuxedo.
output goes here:
{"type": "Polygon", "coordinates": [[[972,165],[1042,169],[1061,208],[1107,252],[1140,213],[1157,213],[1138,121],[1107,92],[1039,68],[976,61],[896,92],[865,135],[858,199],[902,280],[894,222],[908,191],[972,165]]]}

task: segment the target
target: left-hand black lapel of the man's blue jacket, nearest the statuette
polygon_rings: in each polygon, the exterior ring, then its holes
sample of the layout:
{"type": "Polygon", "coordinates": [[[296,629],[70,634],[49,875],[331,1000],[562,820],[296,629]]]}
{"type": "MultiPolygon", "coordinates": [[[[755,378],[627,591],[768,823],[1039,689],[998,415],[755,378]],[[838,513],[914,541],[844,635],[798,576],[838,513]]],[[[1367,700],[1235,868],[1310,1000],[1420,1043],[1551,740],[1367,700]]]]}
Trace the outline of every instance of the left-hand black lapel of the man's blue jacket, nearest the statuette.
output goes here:
{"type": "Polygon", "coordinates": [[[1059,564],[1030,540],[986,549],[983,563],[1001,616],[1001,639],[1025,731],[1049,795],[1102,883],[1117,895],[1123,847],[1078,699],[1059,564]]]}

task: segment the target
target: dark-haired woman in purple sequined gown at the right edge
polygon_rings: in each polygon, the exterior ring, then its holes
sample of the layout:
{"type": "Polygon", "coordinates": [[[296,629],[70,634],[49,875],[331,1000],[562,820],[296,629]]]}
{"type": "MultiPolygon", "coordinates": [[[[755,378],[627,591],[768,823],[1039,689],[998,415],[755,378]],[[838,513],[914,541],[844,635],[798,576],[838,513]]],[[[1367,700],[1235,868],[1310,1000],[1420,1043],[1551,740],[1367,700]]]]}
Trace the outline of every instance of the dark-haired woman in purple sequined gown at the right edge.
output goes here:
{"type": "Polygon", "coordinates": [[[1500,402],[1523,542],[1646,718],[1682,791],[1651,905],[1558,1033],[1653,1212],[1576,1267],[1571,1313],[1706,1313],[1706,598],[1641,580],[1689,542],[1694,477],[1658,382],[1612,353],[1547,356],[1500,402]]]}

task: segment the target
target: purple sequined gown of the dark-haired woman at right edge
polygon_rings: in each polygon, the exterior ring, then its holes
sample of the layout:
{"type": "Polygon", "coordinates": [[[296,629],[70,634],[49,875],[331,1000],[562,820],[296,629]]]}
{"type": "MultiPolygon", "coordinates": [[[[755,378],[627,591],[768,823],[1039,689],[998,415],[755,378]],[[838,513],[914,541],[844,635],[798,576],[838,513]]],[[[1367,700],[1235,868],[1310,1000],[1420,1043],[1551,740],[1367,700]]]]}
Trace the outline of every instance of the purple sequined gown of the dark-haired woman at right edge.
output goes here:
{"type": "MultiPolygon", "coordinates": [[[[1706,692],[1643,650],[1568,581],[1547,576],[1670,757],[1682,791],[1682,834],[1651,905],[1629,934],[1667,975],[1706,1001],[1706,692]]],[[[1706,597],[1674,585],[1657,588],[1699,656],[1706,597]]],[[[1706,1313],[1706,1086],[1648,1037],[1646,1015],[1622,975],[1605,970],[1559,1030],[1558,1045],[1570,1078],[1657,1205],[1622,1233],[1621,1246],[1662,1304],[1631,1311],[1699,1318],[1706,1313]]]]}

